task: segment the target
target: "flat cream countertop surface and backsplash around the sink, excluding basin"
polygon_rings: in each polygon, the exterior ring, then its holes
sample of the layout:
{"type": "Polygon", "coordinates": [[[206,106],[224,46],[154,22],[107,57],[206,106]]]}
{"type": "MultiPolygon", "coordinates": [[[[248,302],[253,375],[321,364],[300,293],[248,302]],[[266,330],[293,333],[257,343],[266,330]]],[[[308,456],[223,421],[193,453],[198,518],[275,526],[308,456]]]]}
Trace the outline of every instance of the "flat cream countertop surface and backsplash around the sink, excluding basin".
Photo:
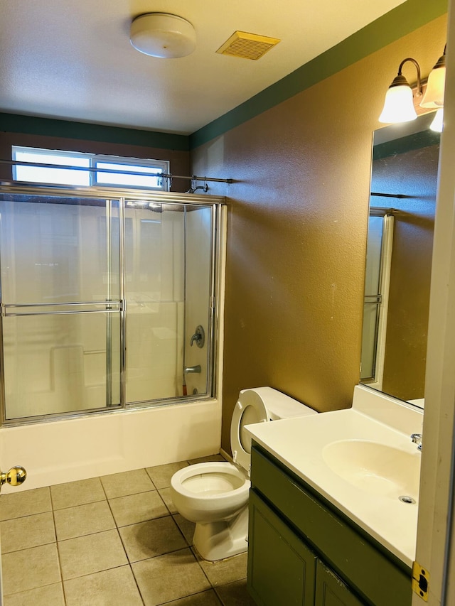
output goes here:
{"type": "MultiPolygon", "coordinates": [[[[417,536],[417,504],[406,504],[396,497],[372,494],[356,487],[331,470],[323,458],[323,448],[340,440],[368,440],[420,458],[421,453],[410,440],[410,434],[421,431],[422,411],[407,408],[397,401],[397,423],[385,424],[378,420],[384,416],[383,408],[375,415],[377,396],[371,399],[366,394],[365,405],[365,401],[361,401],[364,395],[360,393],[358,405],[347,410],[257,423],[246,429],[269,453],[412,567],[417,536]],[[405,427],[406,430],[401,431],[405,427]]],[[[385,406],[392,406],[394,410],[393,401],[390,404],[391,399],[387,400],[385,406]]],[[[419,464],[418,460],[416,462],[419,464]]]]}

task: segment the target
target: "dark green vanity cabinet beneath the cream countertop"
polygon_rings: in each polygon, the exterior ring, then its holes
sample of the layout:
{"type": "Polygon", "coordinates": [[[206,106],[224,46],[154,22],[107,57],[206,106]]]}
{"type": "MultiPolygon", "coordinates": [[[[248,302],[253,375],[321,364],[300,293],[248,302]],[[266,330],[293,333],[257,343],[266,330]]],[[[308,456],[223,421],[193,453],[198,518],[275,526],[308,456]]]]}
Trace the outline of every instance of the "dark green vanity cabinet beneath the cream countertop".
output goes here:
{"type": "Polygon", "coordinates": [[[253,443],[247,585],[259,606],[410,606],[411,569],[253,443]]]}

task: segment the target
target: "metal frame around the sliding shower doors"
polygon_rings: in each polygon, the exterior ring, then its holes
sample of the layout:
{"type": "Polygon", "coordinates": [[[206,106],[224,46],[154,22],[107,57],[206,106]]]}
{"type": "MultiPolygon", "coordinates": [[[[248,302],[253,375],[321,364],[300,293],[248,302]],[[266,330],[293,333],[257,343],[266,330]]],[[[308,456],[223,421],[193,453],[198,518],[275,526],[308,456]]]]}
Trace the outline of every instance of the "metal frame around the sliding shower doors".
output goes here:
{"type": "MultiPolygon", "coordinates": [[[[2,303],[1,292],[1,274],[0,274],[0,303],[1,303],[1,318],[0,318],[0,426],[14,427],[24,426],[32,423],[43,423],[60,421],[69,418],[80,418],[82,416],[92,416],[94,414],[112,414],[122,413],[124,411],[140,410],[142,408],[152,408],[156,406],[168,406],[173,404],[186,404],[192,401],[216,399],[216,391],[218,388],[216,377],[218,376],[219,364],[219,338],[218,338],[218,317],[220,315],[220,303],[222,301],[222,271],[220,263],[224,259],[225,238],[223,233],[223,225],[225,224],[225,198],[223,196],[213,195],[195,195],[185,193],[171,192],[150,192],[144,188],[100,188],[100,187],[82,187],[82,186],[55,186],[41,183],[0,183],[0,194],[20,194],[20,195],[48,195],[53,197],[72,196],[73,198],[100,198],[106,202],[119,201],[119,317],[120,317],[120,402],[119,406],[104,406],[101,408],[82,409],[80,411],[69,411],[60,413],[49,413],[36,416],[28,416],[23,418],[6,418],[6,393],[5,393],[5,376],[4,376],[4,342],[3,342],[3,318],[5,317],[4,305],[2,303]],[[125,282],[125,254],[124,254],[124,207],[127,200],[146,200],[147,202],[166,205],[180,204],[186,206],[212,207],[212,224],[210,234],[210,301],[208,302],[209,327],[208,327],[208,356],[207,356],[207,393],[188,396],[175,396],[163,399],[154,399],[149,401],[133,402],[127,404],[126,401],[126,370],[127,370],[127,352],[126,352],[126,282],[125,282]]],[[[1,215],[0,215],[1,222],[1,215]]],[[[185,251],[186,254],[186,251],[185,251]]],[[[109,258],[109,256],[108,256],[109,258]]],[[[0,259],[1,263],[1,259],[0,259]]],[[[111,302],[112,305],[116,301],[111,302]]],[[[100,303],[98,303],[100,304],[100,303]]],[[[102,303],[106,306],[107,320],[109,320],[109,301],[102,303]]],[[[185,301],[186,306],[186,301],[185,301]]],[[[184,315],[186,309],[184,310],[184,315]]],[[[107,342],[106,337],[106,342],[107,342]]],[[[183,335],[185,340],[185,335],[183,335]]],[[[183,359],[185,356],[185,347],[183,345],[183,359]]],[[[107,349],[107,364],[109,358],[109,347],[107,349]]],[[[111,386],[112,389],[112,386],[111,386]]]]}

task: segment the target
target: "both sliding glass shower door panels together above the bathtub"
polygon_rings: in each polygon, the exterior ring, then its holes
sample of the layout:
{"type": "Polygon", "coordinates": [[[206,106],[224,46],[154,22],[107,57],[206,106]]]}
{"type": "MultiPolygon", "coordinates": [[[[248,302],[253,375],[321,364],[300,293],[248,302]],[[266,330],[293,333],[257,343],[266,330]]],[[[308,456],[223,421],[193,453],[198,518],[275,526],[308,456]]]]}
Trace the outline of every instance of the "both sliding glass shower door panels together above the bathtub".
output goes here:
{"type": "Polygon", "coordinates": [[[3,422],[211,396],[216,215],[0,192],[3,422]]]}

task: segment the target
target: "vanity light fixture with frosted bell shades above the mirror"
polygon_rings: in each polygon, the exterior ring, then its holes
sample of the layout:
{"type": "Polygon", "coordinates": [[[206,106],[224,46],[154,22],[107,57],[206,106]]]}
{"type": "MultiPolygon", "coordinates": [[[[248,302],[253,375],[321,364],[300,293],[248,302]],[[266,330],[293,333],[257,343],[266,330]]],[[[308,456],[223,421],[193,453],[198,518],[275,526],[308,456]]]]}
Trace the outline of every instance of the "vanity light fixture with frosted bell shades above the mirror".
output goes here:
{"type": "MultiPolygon", "coordinates": [[[[415,88],[415,97],[422,96],[422,80],[420,78],[420,66],[415,59],[407,58],[402,60],[398,68],[398,75],[393,80],[387,93],[385,94],[384,108],[379,117],[380,122],[395,124],[397,122],[407,122],[417,118],[417,112],[414,108],[414,94],[410,83],[402,75],[402,67],[407,61],[413,63],[417,70],[417,87],[415,88]]],[[[434,65],[432,72],[427,80],[427,89],[420,102],[420,107],[439,109],[444,106],[444,84],[446,79],[446,49],[439,57],[437,64],[434,65]]],[[[441,112],[437,112],[438,119],[441,120],[441,112]]],[[[436,120],[436,118],[435,118],[436,120]]]]}

